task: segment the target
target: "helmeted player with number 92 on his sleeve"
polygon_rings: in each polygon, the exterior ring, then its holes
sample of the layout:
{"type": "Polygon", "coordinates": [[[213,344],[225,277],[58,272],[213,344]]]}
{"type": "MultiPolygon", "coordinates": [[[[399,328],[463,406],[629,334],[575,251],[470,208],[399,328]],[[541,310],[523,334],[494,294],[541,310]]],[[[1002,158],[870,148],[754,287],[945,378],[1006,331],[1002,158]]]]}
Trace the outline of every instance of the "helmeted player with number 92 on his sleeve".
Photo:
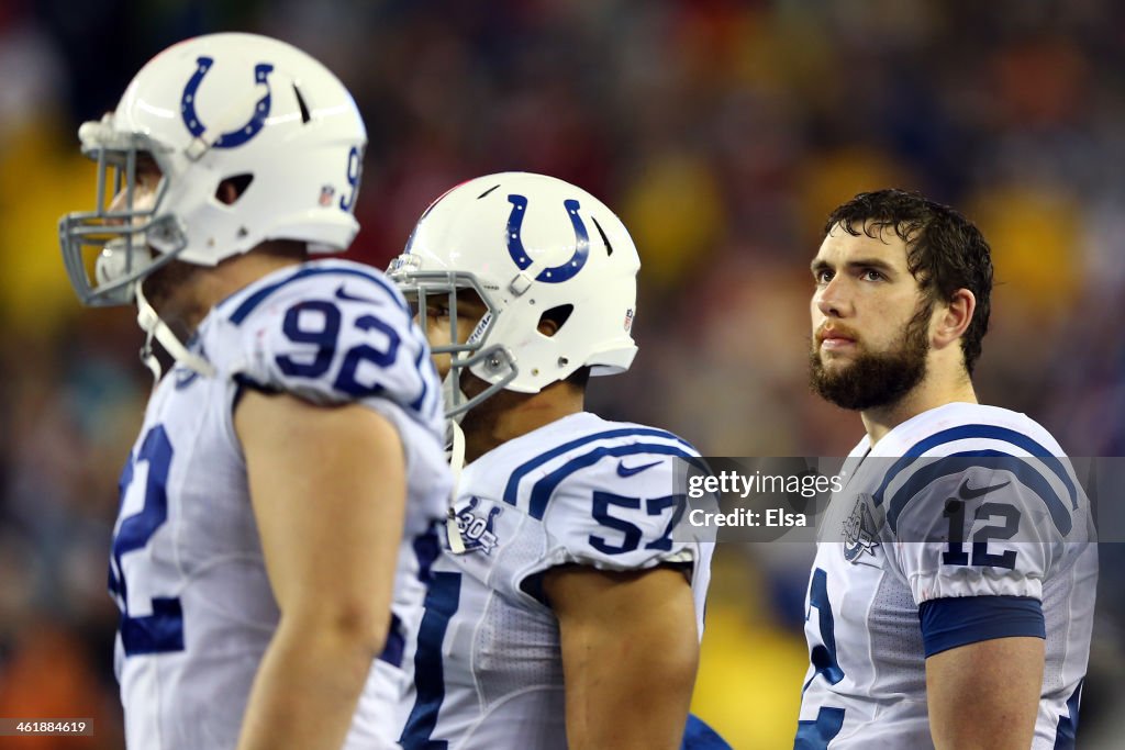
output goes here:
{"type": "Polygon", "coordinates": [[[73,286],[137,306],[158,377],[152,340],[174,359],[110,553],[128,746],[394,747],[451,477],[402,295],[309,260],[358,229],[351,96],[288,44],[215,34],[160,53],[79,137],[98,183],[61,220],[73,286]]]}

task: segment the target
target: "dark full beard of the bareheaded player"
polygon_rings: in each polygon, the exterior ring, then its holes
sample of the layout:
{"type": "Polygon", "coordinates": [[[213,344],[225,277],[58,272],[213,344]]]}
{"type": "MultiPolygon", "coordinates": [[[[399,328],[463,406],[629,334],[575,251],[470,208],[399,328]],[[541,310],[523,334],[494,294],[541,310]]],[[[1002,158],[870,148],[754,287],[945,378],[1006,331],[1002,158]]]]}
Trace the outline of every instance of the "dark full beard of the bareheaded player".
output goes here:
{"type": "Polygon", "coordinates": [[[860,351],[855,361],[829,371],[813,338],[809,352],[809,385],[813,392],[845,409],[863,412],[897,404],[926,377],[933,304],[924,304],[902,335],[883,352],[860,351]]]}

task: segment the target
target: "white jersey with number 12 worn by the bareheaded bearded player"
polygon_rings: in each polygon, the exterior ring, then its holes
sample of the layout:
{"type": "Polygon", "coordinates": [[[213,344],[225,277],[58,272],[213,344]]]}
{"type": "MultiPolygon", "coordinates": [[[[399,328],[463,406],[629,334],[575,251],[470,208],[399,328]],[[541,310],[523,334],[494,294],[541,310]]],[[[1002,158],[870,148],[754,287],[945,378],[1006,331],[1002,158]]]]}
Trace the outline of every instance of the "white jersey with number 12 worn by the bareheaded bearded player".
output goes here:
{"type": "Polygon", "coordinates": [[[848,457],[806,600],[794,748],[933,748],[926,659],[1046,639],[1035,750],[1074,747],[1097,550],[1070,461],[1023,414],[948,404],[848,457]]]}

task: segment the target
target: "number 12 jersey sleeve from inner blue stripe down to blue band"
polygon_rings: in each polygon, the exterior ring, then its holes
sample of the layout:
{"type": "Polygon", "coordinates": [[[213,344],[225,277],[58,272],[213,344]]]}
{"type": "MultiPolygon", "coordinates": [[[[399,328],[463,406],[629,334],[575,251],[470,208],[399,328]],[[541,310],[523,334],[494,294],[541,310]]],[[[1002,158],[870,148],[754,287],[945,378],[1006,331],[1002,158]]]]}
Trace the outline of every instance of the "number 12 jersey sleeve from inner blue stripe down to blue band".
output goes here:
{"type": "MultiPolygon", "coordinates": [[[[993,452],[989,452],[993,453],[993,452]]],[[[1065,555],[1078,493],[1065,459],[918,459],[885,504],[890,563],[910,586],[926,656],[1045,636],[1043,582],[1065,555]]]]}

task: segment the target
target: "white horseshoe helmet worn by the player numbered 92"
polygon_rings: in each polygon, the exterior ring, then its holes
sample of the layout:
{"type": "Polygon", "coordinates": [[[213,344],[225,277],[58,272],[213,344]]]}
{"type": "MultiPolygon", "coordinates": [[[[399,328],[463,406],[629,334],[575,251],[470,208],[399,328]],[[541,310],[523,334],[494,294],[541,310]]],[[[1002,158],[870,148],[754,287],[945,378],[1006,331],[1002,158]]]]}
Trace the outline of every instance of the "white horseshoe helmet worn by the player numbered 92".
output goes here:
{"type": "Polygon", "coordinates": [[[359,229],[363,120],[335,75],[277,39],[212,34],[173,45],[79,138],[98,162],[97,205],[64,216],[60,240],[86,305],[133,301],[173,257],[215,265],[267,240],[342,252],[359,229]],[[134,201],[138,155],[161,172],[154,205],[134,201]],[[231,205],[216,195],[225,180],[240,188],[231,205]]]}

